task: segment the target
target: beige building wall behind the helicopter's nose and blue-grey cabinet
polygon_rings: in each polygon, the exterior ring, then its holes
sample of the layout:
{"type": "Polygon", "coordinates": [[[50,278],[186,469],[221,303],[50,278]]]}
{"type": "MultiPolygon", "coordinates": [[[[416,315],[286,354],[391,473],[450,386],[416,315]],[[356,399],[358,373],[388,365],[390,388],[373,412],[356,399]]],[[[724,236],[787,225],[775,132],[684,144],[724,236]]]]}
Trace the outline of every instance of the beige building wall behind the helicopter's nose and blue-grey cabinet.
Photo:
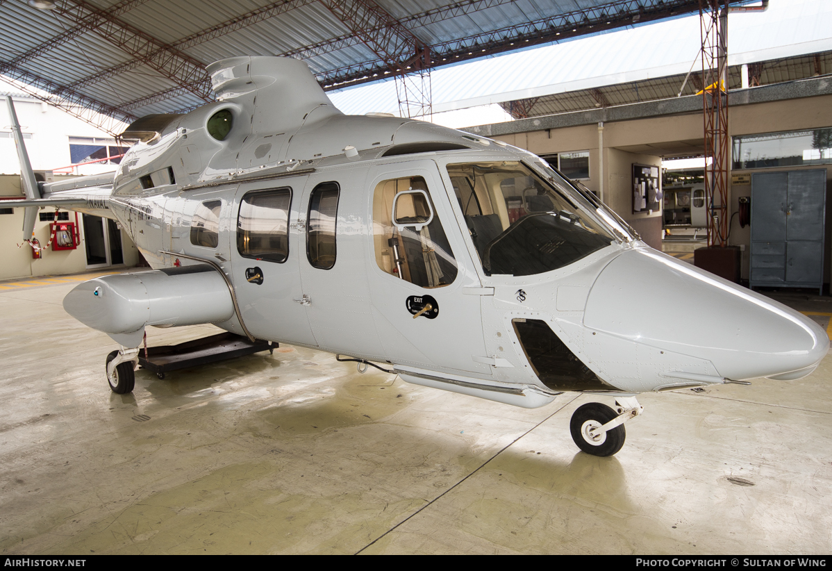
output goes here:
{"type": "MultiPolygon", "coordinates": [[[[803,97],[776,102],[755,103],[729,108],[729,135],[799,131],[832,127],[832,96],[803,97]]],[[[665,117],[648,117],[629,121],[607,122],[603,125],[602,151],[599,151],[597,123],[577,127],[544,129],[496,136],[501,141],[532,151],[537,155],[560,152],[589,151],[590,178],[582,181],[587,188],[601,190],[601,169],[598,157],[603,154],[604,201],[617,211],[647,244],[661,250],[661,211],[651,214],[632,212],[631,165],[633,163],[661,166],[662,156],[701,153],[704,123],[699,112],[665,117]]],[[[731,171],[750,174],[766,171],[795,171],[826,168],[826,225],[824,281],[830,283],[832,258],[832,165],[782,166],[731,171]]],[[[740,196],[750,196],[750,185],[731,186],[731,212],[739,208],[740,196]]],[[[745,246],[742,252],[742,278],[747,280],[750,266],[750,226],[740,228],[734,220],[730,231],[732,246],[745,246]]]]}

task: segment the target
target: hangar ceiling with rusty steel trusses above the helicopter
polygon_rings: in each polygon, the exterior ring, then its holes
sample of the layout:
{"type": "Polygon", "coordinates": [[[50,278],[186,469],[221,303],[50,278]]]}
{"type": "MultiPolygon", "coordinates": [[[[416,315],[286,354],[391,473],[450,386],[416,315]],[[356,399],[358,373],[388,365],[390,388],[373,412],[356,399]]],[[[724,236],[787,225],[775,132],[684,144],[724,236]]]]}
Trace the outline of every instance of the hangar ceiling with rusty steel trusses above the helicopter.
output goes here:
{"type": "Polygon", "coordinates": [[[297,57],[338,89],[699,9],[698,0],[54,3],[0,0],[0,74],[111,133],[212,101],[206,65],[224,57],[297,57]]]}

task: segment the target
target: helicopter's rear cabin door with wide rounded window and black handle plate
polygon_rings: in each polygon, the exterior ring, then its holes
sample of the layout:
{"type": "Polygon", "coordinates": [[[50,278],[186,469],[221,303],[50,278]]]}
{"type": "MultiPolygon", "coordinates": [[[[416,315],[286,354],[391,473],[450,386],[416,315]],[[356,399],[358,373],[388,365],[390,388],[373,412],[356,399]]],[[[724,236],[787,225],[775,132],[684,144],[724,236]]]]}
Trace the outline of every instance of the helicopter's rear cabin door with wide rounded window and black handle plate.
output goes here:
{"type": "Polygon", "coordinates": [[[305,179],[241,184],[228,234],[237,301],[251,335],[316,346],[300,284],[305,179]]]}

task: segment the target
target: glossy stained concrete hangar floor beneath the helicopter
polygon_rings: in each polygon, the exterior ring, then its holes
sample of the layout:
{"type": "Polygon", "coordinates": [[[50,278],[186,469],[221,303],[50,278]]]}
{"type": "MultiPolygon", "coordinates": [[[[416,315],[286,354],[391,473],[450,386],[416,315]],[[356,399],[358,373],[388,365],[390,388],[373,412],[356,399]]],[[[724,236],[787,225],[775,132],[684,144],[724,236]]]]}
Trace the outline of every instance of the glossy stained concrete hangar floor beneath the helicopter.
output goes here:
{"type": "Polygon", "coordinates": [[[64,313],[71,289],[0,291],[2,554],[832,551],[832,356],[803,380],[642,395],[599,459],[569,435],[590,396],[523,410],[290,346],[115,395],[116,345],[64,313]]]}

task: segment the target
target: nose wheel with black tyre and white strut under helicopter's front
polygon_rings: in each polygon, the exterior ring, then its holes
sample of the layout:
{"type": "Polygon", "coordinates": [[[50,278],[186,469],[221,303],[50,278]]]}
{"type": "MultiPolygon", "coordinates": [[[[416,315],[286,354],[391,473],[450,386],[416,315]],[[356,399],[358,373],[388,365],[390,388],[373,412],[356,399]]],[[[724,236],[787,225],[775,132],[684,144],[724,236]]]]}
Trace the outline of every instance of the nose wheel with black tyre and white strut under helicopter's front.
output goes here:
{"type": "Polygon", "coordinates": [[[587,403],[572,414],[569,429],[577,447],[594,456],[612,456],[622,449],[626,434],[624,423],[641,415],[644,407],[636,397],[619,397],[617,410],[601,403],[587,403]]]}

